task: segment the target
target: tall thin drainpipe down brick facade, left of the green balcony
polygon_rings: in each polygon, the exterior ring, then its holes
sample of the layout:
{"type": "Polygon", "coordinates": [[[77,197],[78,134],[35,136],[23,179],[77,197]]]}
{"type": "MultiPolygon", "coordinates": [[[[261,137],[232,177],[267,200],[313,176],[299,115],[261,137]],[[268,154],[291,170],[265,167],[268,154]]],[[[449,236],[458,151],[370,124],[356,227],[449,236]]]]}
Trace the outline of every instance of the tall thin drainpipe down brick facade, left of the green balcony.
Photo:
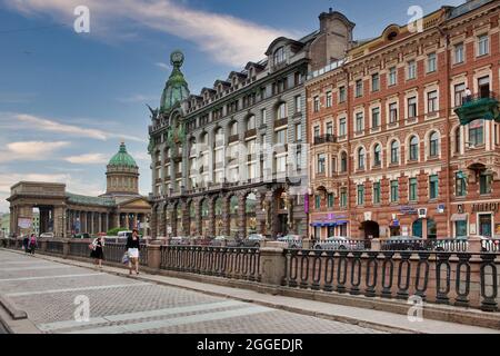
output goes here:
{"type": "Polygon", "coordinates": [[[450,140],[450,108],[451,108],[451,98],[450,98],[450,55],[449,55],[449,43],[450,43],[450,37],[449,34],[438,27],[439,33],[441,37],[444,38],[444,76],[446,76],[446,88],[444,88],[444,95],[447,98],[446,103],[446,125],[444,125],[444,132],[446,132],[446,140],[447,140],[447,150],[446,150],[446,187],[447,187],[447,237],[451,237],[451,198],[450,198],[450,148],[451,148],[451,140],[450,140]]]}

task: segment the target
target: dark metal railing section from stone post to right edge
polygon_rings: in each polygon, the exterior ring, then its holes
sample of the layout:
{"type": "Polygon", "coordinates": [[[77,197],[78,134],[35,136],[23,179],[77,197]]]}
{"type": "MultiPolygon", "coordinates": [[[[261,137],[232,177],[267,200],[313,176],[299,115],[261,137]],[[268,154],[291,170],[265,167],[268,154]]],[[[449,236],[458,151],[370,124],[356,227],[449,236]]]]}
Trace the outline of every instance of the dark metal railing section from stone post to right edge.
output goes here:
{"type": "Polygon", "coordinates": [[[284,286],[408,299],[418,296],[494,312],[500,260],[496,254],[287,249],[284,286]]]}

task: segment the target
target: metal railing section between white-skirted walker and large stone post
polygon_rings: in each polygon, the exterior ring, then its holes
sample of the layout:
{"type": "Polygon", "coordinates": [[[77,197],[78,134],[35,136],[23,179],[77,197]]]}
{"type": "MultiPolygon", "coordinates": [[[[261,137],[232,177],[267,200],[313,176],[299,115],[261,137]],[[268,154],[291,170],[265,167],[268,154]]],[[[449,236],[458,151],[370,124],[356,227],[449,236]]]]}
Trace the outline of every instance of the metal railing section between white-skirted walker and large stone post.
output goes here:
{"type": "Polygon", "coordinates": [[[260,254],[251,247],[162,246],[161,268],[259,281],[260,254]]]}

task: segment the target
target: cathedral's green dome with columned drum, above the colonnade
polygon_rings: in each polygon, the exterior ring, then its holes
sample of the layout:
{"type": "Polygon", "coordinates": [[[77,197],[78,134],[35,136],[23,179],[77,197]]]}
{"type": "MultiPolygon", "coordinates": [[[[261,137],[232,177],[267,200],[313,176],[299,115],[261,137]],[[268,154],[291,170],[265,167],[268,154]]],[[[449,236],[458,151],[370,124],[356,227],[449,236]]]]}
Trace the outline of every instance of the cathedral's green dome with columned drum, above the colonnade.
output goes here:
{"type": "Polygon", "coordinates": [[[124,142],[121,142],[107,166],[106,196],[139,195],[139,167],[136,160],[127,152],[124,142]]]}

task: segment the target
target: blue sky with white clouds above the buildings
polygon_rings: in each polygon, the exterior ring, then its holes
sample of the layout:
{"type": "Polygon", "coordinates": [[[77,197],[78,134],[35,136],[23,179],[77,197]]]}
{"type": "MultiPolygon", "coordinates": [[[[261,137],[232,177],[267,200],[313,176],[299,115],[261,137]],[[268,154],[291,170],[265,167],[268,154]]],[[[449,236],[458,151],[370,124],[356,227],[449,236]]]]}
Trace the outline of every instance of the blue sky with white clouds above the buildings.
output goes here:
{"type": "Polygon", "coordinates": [[[172,50],[192,93],[263,59],[277,37],[303,37],[329,8],[354,39],[464,0],[0,0],[0,212],[20,180],[106,190],[106,164],[124,140],[150,191],[149,110],[159,106],[172,50]],[[77,33],[86,6],[90,32],[77,33]]]}

